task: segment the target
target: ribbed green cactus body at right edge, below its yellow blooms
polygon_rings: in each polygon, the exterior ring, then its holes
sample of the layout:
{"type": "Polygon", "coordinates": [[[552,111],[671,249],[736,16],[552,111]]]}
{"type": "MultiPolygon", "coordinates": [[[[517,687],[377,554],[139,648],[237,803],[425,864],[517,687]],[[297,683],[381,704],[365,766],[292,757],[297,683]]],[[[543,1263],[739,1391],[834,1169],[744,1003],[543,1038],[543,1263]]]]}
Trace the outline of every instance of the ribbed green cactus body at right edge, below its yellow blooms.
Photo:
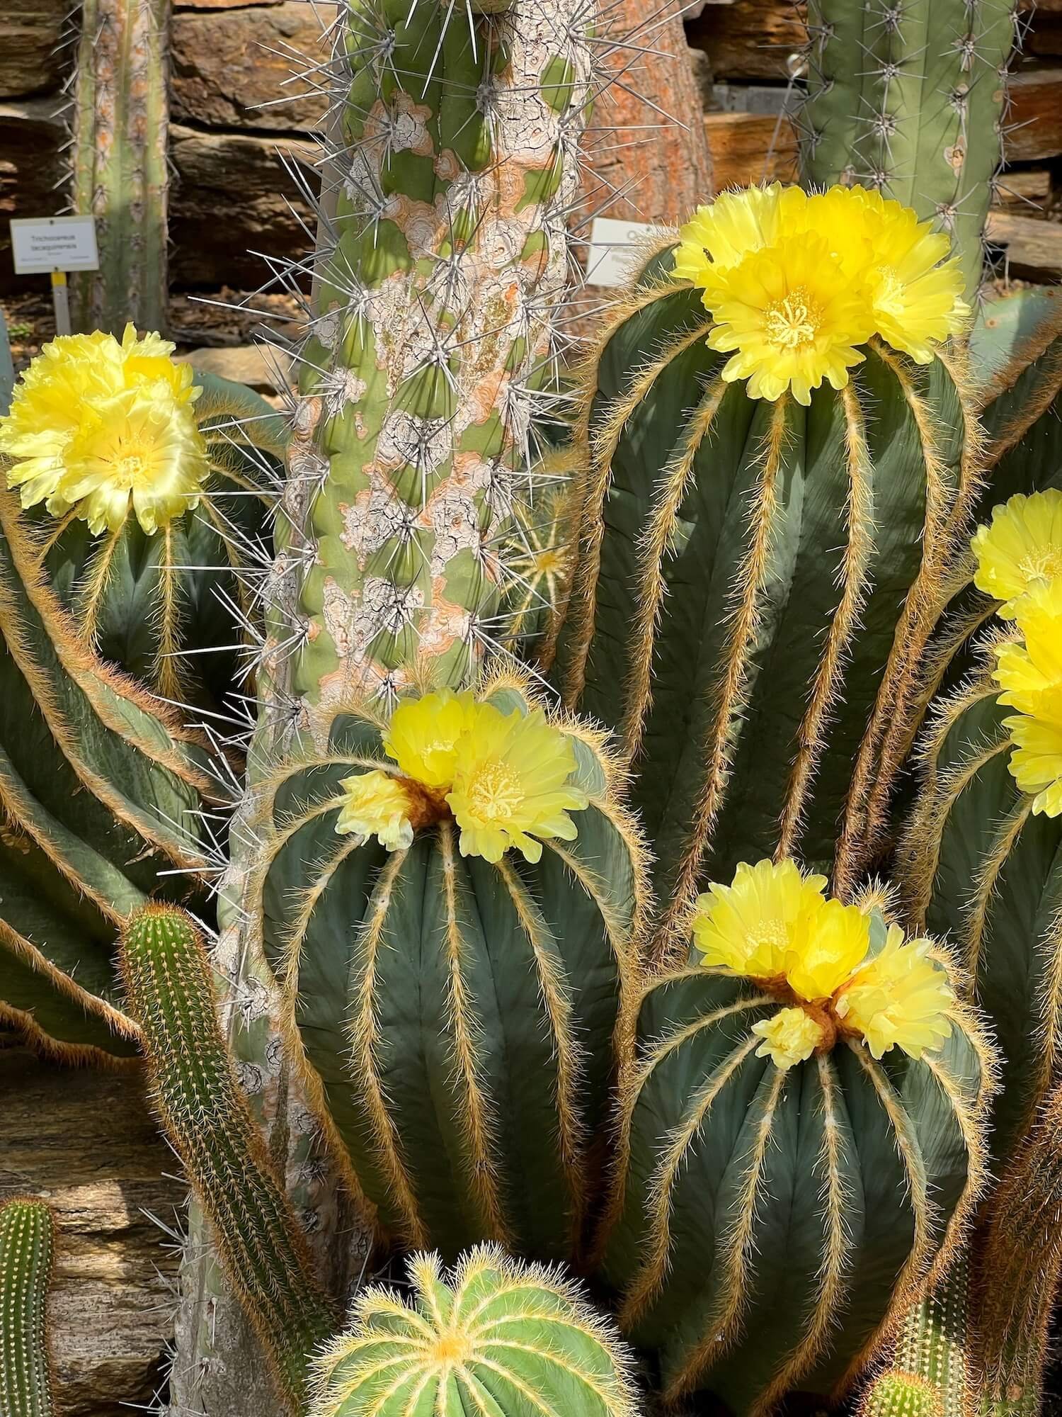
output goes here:
{"type": "Polygon", "coordinates": [[[1010,1153],[1062,1046],[1062,820],[1032,813],[1007,762],[987,670],[937,708],[901,854],[912,922],[947,938],[1001,1053],[991,1145],[1010,1153]]]}

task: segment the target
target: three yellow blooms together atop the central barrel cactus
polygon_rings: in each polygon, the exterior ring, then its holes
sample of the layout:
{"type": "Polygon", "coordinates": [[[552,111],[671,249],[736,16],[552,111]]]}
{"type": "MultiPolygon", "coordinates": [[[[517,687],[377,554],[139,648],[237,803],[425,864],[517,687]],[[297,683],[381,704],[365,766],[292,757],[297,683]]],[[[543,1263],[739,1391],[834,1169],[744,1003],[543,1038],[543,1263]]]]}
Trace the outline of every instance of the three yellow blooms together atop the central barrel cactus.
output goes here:
{"type": "Polygon", "coordinates": [[[537,837],[573,840],[568,813],[589,805],[568,782],[572,741],[541,708],[503,714],[470,690],[443,689],[395,708],[384,751],[396,771],[346,778],[336,830],[375,836],[391,852],[411,846],[418,828],[452,816],[462,856],[498,862],[515,846],[537,862],[537,837]]]}

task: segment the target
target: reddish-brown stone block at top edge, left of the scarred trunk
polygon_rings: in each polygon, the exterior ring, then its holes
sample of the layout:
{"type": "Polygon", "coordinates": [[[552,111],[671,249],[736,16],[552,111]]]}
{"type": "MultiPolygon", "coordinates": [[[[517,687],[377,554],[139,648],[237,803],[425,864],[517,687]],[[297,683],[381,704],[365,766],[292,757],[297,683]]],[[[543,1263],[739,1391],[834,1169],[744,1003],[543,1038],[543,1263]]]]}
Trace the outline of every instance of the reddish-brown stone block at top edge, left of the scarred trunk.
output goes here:
{"type": "Polygon", "coordinates": [[[304,0],[177,11],[170,24],[173,116],[205,128],[314,128],[326,109],[314,92],[319,81],[293,74],[324,62],[321,26],[333,16],[334,6],[304,0]],[[290,101],[278,102],[285,96],[290,101]]]}

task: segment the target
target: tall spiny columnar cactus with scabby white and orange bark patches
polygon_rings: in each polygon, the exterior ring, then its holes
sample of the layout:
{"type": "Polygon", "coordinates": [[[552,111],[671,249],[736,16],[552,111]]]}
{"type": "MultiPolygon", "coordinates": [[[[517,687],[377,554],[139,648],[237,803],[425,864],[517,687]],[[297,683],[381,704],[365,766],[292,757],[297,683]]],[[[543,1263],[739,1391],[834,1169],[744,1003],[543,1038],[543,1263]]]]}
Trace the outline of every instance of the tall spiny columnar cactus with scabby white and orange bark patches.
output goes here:
{"type": "MultiPolygon", "coordinates": [[[[534,495],[524,468],[568,279],[592,11],[353,0],[320,71],[334,102],[313,320],[214,965],[252,1110],[337,1292],[364,1267],[365,1231],[289,1073],[245,908],[249,823],[296,731],[321,741],[340,703],[469,682],[491,639],[497,547],[513,499],[534,495]]],[[[272,1417],[256,1343],[193,1210],[173,1411],[272,1417]]]]}

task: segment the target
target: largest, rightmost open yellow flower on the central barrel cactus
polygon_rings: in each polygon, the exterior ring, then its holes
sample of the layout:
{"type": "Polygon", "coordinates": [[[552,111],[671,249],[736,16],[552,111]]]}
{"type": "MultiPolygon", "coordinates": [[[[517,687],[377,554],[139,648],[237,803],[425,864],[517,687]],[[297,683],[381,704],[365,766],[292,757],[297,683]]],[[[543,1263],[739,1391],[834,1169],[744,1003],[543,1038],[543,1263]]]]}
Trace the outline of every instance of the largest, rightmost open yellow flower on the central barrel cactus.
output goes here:
{"type": "Polygon", "coordinates": [[[500,862],[515,846],[525,860],[542,856],[539,839],[573,840],[569,812],[589,799],[568,779],[575,771],[571,740],[541,708],[503,714],[476,704],[474,721],[457,740],[453,788],[446,801],[460,828],[462,856],[500,862]]]}

